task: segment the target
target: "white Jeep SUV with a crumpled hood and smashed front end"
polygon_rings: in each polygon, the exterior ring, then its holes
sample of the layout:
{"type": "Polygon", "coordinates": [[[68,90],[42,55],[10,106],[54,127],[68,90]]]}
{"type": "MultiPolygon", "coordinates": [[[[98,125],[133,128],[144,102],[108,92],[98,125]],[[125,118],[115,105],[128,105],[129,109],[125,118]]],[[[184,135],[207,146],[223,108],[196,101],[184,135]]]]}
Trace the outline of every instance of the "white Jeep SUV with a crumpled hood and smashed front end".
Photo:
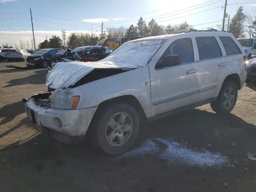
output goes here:
{"type": "Polygon", "coordinates": [[[99,62],[56,64],[46,78],[53,91],[32,96],[26,112],[60,142],[80,142],[88,132],[103,152],[119,154],[134,143],[143,120],[207,103],[229,113],[246,80],[245,60],[227,32],[133,40],[99,62]]]}

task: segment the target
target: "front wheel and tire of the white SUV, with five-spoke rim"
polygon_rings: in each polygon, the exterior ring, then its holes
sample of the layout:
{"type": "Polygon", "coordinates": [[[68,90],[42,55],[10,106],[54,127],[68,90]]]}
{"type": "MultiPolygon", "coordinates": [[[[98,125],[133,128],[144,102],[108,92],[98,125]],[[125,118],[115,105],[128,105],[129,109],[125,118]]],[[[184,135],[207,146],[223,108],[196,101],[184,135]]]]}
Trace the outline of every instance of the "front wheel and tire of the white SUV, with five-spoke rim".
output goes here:
{"type": "Polygon", "coordinates": [[[128,150],[139,133],[138,112],[126,103],[108,105],[98,110],[91,127],[94,147],[110,155],[128,150]]]}

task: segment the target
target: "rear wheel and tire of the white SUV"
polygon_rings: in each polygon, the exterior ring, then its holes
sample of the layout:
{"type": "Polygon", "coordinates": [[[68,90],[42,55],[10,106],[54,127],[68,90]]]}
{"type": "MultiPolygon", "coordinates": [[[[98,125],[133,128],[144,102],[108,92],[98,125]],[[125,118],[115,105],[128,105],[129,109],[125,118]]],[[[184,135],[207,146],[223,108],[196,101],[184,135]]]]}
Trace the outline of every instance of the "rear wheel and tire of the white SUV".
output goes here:
{"type": "Polygon", "coordinates": [[[224,82],[215,102],[211,103],[212,110],[216,113],[230,113],[237,100],[237,86],[234,82],[224,82]]]}

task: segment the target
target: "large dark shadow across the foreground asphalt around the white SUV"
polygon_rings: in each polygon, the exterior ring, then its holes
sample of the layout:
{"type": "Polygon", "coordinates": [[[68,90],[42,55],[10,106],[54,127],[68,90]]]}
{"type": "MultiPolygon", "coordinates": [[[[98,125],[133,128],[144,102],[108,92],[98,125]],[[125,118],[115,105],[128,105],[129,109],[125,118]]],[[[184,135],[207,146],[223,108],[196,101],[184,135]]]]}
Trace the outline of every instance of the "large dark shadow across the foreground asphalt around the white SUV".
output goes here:
{"type": "Polygon", "coordinates": [[[142,191],[139,181],[144,191],[254,191],[256,163],[244,159],[247,152],[256,152],[255,137],[256,126],[238,116],[193,109],[145,124],[132,146],[149,138],[171,138],[230,161],[230,166],[205,169],[171,160],[166,167],[164,160],[150,155],[115,160],[88,141],[60,144],[42,141],[40,134],[12,153],[0,153],[0,160],[7,159],[0,167],[0,185],[6,191],[142,191]]]}

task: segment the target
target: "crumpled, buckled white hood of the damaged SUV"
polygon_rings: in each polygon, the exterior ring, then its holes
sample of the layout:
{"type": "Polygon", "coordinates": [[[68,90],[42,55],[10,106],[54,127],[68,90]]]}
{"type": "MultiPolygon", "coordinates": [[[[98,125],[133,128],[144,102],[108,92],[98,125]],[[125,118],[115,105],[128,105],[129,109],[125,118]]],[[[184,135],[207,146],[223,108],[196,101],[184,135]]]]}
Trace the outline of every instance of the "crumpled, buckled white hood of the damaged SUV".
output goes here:
{"type": "Polygon", "coordinates": [[[96,68],[134,69],[138,66],[118,65],[110,61],[59,62],[46,75],[46,85],[54,89],[68,88],[96,68]]]}

